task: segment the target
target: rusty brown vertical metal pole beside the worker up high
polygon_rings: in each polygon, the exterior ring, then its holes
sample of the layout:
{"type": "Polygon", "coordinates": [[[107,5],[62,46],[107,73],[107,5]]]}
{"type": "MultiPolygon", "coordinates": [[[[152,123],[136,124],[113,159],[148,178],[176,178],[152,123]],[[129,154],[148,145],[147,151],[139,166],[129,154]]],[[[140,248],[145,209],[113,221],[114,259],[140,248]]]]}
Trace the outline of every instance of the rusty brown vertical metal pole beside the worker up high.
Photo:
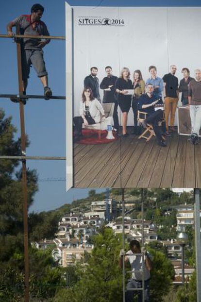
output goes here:
{"type": "MultiPolygon", "coordinates": [[[[17,34],[19,33],[19,27],[16,29],[17,34]]],[[[23,93],[22,84],[22,61],[21,61],[21,45],[20,41],[17,41],[17,70],[18,70],[18,88],[19,94],[23,93]]],[[[19,114],[20,114],[20,131],[21,131],[21,152],[26,154],[26,135],[25,135],[25,124],[24,124],[24,104],[19,101],[19,114]]],[[[28,242],[28,204],[27,204],[27,169],[26,160],[22,161],[22,188],[23,188],[23,223],[24,223],[24,285],[25,302],[29,302],[29,242],[28,242]]]]}

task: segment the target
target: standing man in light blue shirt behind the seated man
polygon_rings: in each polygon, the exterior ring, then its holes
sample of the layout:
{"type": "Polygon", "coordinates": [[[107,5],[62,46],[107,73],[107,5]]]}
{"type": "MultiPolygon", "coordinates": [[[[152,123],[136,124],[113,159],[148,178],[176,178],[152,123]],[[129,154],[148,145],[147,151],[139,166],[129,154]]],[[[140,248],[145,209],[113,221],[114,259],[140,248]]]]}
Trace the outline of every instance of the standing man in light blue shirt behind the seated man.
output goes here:
{"type": "Polygon", "coordinates": [[[153,94],[157,97],[157,98],[161,98],[162,99],[162,93],[163,93],[163,80],[159,77],[157,77],[157,69],[155,66],[151,65],[149,67],[149,72],[151,74],[151,78],[149,78],[146,82],[147,84],[153,84],[153,88],[154,88],[154,92],[153,94]]]}

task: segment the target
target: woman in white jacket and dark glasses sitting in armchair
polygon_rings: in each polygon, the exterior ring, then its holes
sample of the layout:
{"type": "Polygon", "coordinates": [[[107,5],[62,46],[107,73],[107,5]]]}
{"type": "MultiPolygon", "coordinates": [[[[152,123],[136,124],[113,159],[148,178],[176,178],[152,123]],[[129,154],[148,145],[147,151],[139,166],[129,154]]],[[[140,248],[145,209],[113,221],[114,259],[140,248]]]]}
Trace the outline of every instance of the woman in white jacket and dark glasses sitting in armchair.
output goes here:
{"type": "Polygon", "coordinates": [[[98,124],[105,120],[104,109],[101,103],[94,98],[91,88],[84,88],[80,102],[80,117],[73,117],[75,124],[74,141],[82,136],[83,123],[85,126],[98,124]]]}

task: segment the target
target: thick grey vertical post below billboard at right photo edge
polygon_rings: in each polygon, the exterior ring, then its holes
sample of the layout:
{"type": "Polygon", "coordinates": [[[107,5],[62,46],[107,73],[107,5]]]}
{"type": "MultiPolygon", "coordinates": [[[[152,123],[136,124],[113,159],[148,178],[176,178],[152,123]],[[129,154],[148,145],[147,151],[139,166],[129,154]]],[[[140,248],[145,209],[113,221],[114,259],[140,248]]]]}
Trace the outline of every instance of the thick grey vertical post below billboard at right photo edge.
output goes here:
{"type": "Polygon", "coordinates": [[[201,301],[201,220],[200,220],[200,189],[194,189],[194,225],[196,249],[197,302],[201,301]]]}

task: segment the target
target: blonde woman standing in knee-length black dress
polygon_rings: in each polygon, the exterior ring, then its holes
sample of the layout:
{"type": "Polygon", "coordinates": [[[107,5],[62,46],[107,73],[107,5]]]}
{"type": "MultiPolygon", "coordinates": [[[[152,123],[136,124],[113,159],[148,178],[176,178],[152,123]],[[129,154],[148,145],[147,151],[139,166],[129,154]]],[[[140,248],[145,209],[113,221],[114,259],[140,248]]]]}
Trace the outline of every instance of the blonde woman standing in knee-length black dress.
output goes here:
{"type": "Polygon", "coordinates": [[[133,89],[132,81],[130,78],[130,70],[129,68],[124,67],[121,70],[120,77],[116,82],[116,92],[117,92],[117,101],[118,105],[122,112],[122,136],[128,136],[126,131],[127,120],[128,120],[128,112],[131,108],[131,97],[132,95],[128,95],[128,89],[133,89]]]}

